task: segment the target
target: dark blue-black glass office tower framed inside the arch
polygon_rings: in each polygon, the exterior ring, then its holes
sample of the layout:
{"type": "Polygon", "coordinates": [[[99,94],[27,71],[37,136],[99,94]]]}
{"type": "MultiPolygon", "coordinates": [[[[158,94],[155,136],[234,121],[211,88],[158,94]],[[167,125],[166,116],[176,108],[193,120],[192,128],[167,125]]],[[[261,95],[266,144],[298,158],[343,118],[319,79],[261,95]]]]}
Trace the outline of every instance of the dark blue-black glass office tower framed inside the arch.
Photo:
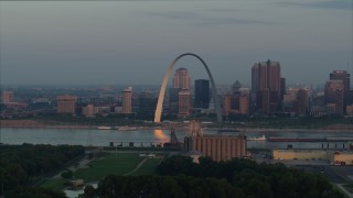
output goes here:
{"type": "Polygon", "coordinates": [[[195,80],[195,100],[194,108],[208,109],[210,105],[210,80],[195,80]]]}

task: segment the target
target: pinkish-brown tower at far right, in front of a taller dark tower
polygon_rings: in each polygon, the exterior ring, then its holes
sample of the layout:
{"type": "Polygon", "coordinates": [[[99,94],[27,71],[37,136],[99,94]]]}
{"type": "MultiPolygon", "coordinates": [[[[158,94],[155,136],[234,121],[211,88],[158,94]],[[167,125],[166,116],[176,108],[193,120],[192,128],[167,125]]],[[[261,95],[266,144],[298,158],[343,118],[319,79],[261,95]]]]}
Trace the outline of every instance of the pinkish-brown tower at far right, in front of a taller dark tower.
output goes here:
{"type": "Polygon", "coordinates": [[[330,112],[344,113],[344,84],[342,80],[329,80],[324,86],[324,103],[327,107],[333,107],[330,112]]]}

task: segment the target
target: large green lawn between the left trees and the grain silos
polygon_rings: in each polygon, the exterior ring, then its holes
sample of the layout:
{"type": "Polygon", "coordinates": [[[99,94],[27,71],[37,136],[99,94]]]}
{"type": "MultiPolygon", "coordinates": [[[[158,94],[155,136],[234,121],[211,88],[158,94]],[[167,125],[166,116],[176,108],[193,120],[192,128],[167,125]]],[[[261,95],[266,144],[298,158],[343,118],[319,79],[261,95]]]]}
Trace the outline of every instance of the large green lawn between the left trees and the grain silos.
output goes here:
{"type": "Polygon", "coordinates": [[[139,154],[107,154],[90,162],[88,168],[76,170],[74,177],[85,182],[96,182],[110,174],[124,175],[132,170],[142,160],[139,154]]]}

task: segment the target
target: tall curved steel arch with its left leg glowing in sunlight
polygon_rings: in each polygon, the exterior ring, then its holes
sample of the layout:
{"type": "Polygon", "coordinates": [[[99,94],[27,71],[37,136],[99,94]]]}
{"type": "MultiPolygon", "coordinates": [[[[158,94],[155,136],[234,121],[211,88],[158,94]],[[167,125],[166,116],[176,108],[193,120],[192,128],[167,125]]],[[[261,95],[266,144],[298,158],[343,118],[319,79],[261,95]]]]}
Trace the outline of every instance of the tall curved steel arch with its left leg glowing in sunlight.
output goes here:
{"type": "Polygon", "coordinates": [[[170,76],[170,73],[172,72],[175,63],[184,57],[184,56],[193,56],[195,58],[197,58],[202,65],[205,67],[206,72],[207,72],[207,75],[208,75],[208,78],[210,78],[210,81],[211,81],[211,88],[212,88],[212,97],[213,97],[213,101],[215,103],[215,109],[216,109],[216,116],[217,116],[217,122],[218,123],[222,123],[222,114],[221,114],[221,103],[220,103],[220,98],[218,98],[218,95],[217,95],[217,90],[216,90],[216,86],[214,84],[214,80],[213,80],[213,77],[211,75],[211,72],[206,65],[206,63],[200,57],[197,56],[196,54],[192,54],[192,53],[185,53],[185,54],[182,54],[182,55],[179,55],[168,67],[168,70],[164,75],[164,78],[163,78],[163,82],[162,82],[162,86],[161,86],[161,90],[159,91],[159,97],[158,97],[158,102],[157,102],[157,107],[156,107],[156,111],[154,111],[154,123],[160,123],[161,122],[161,114],[162,114],[162,109],[163,109],[163,100],[164,100],[164,94],[165,94],[165,88],[167,88],[167,84],[168,84],[168,79],[169,79],[169,76],[170,76]]]}

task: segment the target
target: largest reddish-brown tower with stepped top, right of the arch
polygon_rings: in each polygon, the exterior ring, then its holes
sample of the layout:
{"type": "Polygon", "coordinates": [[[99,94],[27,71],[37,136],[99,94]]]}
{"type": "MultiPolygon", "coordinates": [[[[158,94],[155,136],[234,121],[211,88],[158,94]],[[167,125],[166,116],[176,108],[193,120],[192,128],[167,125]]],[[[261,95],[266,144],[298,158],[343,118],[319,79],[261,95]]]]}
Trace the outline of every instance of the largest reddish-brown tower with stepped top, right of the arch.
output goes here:
{"type": "Polygon", "coordinates": [[[252,91],[255,94],[255,110],[268,114],[278,110],[280,105],[280,64],[260,62],[252,68],[252,91]]]}

